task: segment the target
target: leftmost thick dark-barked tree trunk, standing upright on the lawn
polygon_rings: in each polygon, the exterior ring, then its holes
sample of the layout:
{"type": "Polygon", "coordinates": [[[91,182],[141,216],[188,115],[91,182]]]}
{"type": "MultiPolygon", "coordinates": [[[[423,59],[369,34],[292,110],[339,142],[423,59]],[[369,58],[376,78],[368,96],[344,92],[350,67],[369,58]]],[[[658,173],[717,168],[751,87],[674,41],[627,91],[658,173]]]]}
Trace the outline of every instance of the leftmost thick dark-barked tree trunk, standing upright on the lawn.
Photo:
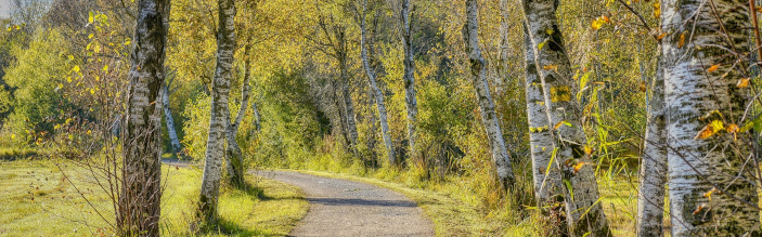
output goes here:
{"type": "Polygon", "coordinates": [[[169,0],[141,0],[131,55],[127,118],[122,133],[118,235],[159,235],[162,202],[162,103],[169,0]]]}

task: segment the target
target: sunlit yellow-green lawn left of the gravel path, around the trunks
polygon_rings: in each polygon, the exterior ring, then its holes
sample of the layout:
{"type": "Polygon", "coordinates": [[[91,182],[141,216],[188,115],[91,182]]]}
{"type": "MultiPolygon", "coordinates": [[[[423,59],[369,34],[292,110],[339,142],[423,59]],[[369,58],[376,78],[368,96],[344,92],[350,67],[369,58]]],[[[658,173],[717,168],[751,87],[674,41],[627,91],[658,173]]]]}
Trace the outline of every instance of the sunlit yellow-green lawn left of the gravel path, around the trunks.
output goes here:
{"type": "MultiPolygon", "coordinates": [[[[112,222],[114,214],[107,196],[93,184],[95,180],[80,168],[66,166],[63,170],[49,161],[0,161],[0,236],[108,232],[108,224],[100,215],[112,222]]],[[[192,235],[189,226],[195,215],[201,176],[196,168],[163,168],[163,235],[192,235]]],[[[307,213],[308,203],[298,187],[254,175],[246,179],[255,188],[223,187],[219,226],[196,235],[285,236],[307,213]]]]}

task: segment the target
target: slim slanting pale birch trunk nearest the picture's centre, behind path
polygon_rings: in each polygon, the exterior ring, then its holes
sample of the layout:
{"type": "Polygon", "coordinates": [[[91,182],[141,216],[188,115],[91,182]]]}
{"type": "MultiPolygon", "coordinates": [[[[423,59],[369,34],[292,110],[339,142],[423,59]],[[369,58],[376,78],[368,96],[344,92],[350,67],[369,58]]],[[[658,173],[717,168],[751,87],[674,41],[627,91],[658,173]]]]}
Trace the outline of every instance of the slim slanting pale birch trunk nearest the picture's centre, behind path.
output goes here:
{"type": "Polygon", "coordinates": [[[367,42],[367,36],[365,31],[365,12],[367,11],[367,0],[363,2],[362,14],[360,15],[360,52],[362,54],[362,65],[367,75],[367,80],[371,84],[371,90],[373,91],[373,97],[376,100],[376,107],[378,108],[378,118],[380,119],[382,126],[382,136],[384,137],[384,145],[386,146],[387,158],[389,159],[389,164],[396,164],[395,160],[395,147],[391,143],[391,136],[389,135],[389,122],[387,121],[386,105],[384,105],[384,92],[376,85],[376,73],[371,68],[371,64],[367,61],[367,49],[365,49],[365,43],[367,42]]]}

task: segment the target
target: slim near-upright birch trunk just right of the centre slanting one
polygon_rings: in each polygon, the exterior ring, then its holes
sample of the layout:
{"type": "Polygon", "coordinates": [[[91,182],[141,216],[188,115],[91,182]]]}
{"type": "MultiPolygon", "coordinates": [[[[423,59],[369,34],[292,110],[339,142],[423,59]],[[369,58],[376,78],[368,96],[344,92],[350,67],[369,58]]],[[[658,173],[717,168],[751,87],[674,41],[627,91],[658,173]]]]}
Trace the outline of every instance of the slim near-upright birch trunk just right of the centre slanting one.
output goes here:
{"type": "Polygon", "coordinates": [[[408,141],[410,156],[417,156],[415,149],[418,102],[415,98],[415,52],[413,51],[413,24],[410,0],[402,1],[402,45],[404,47],[404,102],[408,109],[408,141]]]}

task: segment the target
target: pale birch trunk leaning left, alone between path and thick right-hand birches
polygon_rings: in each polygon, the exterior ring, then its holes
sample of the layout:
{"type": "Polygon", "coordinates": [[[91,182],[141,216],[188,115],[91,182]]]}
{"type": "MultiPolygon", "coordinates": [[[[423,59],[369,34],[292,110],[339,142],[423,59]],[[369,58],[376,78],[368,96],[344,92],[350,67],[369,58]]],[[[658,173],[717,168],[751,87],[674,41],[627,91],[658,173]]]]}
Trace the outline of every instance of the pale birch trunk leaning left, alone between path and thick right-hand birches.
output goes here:
{"type": "Polygon", "coordinates": [[[486,76],[486,61],[481,56],[478,38],[478,5],[476,0],[466,0],[467,22],[463,26],[463,38],[466,42],[468,60],[470,62],[470,76],[476,97],[481,110],[481,120],[487,131],[487,136],[492,147],[492,161],[498,170],[498,177],[501,185],[507,189],[515,181],[511,157],[505,148],[503,133],[498,122],[498,116],[494,111],[494,103],[490,95],[490,87],[486,76]]]}

